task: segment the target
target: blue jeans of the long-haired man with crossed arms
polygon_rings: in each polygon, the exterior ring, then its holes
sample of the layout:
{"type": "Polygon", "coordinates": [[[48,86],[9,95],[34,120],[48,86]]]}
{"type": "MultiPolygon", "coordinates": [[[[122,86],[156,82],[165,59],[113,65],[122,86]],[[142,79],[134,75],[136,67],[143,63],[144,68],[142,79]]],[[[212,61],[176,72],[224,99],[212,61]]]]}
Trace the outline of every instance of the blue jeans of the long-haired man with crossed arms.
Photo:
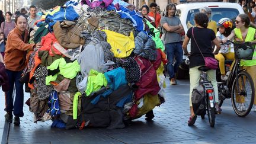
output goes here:
{"type": "Polygon", "coordinates": [[[167,53],[167,71],[169,74],[169,78],[174,78],[175,73],[178,71],[178,66],[183,61],[183,49],[181,47],[181,43],[167,43],[165,44],[165,52],[167,53]],[[175,63],[174,63],[175,58],[175,63]]]}

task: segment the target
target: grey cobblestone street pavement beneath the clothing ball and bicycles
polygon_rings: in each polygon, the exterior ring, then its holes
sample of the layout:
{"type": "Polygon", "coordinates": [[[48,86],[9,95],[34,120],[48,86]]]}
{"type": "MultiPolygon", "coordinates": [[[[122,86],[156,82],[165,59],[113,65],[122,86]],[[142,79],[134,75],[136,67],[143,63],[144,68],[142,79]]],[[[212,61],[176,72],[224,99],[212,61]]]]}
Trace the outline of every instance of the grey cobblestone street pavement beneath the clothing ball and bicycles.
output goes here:
{"type": "MultiPolygon", "coordinates": [[[[167,84],[169,84],[167,82],[167,84]]],[[[216,116],[215,127],[198,117],[194,126],[187,126],[190,114],[188,107],[189,81],[178,81],[178,85],[167,86],[166,102],[154,109],[152,122],[145,117],[133,120],[124,129],[57,129],[48,122],[33,123],[33,113],[24,106],[25,116],[21,126],[3,123],[1,107],[2,143],[256,143],[256,113],[247,117],[236,116],[231,101],[225,100],[223,112],[216,116]],[[4,128],[3,128],[4,127],[4,128]],[[9,128],[9,135],[7,132],[9,128]]],[[[26,93],[24,101],[29,95],[26,93]]]]}

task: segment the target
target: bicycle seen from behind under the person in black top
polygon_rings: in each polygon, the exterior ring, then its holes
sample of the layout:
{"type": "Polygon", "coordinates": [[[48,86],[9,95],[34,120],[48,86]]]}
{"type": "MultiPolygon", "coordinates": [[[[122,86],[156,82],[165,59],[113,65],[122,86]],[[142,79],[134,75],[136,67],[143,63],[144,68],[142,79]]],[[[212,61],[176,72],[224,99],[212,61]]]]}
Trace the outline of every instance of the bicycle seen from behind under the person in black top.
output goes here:
{"type": "MultiPolygon", "coordinates": [[[[187,56],[189,59],[189,56],[187,56]]],[[[204,89],[204,98],[206,101],[206,111],[207,116],[209,119],[209,123],[211,127],[215,126],[215,94],[214,94],[214,88],[212,85],[212,82],[207,79],[207,71],[210,70],[207,66],[200,66],[199,71],[201,71],[200,74],[200,80],[199,85],[201,85],[204,89]]],[[[201,119],[204,119],[204,115],[201,115],[201,119]]]]}

